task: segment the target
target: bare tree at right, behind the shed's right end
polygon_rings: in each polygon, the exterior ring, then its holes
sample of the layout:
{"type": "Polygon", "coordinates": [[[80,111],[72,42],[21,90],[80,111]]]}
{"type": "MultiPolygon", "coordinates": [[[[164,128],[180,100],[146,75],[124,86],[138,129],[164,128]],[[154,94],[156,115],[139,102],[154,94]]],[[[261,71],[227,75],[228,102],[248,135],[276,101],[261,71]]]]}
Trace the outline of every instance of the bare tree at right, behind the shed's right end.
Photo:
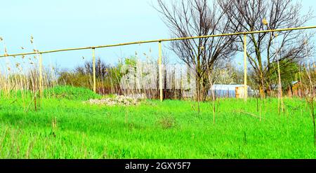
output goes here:
{"type": "MultiPolygon", "coordinates": [[[[232,31],[237,29],[238,32],[303,27],[313,18],[312,11],[301,15],[301,3],[293,0],[218,0],[218,4],[233,24],[232,31]]],[[[261,97],[271,90],[271,76],[275,75],[273,64],[282,61],[280,68],[285,69],[303,59],[306,56],[305,41],[310,39],[311,34],[306,31],[247,35],[247,57],[256,74],[261,97]]],[[[243,43],[242,36],[239,41],[243,43]]],[[[312,46],[308,48],[308,51],[312,50],[312,46]]]]}

